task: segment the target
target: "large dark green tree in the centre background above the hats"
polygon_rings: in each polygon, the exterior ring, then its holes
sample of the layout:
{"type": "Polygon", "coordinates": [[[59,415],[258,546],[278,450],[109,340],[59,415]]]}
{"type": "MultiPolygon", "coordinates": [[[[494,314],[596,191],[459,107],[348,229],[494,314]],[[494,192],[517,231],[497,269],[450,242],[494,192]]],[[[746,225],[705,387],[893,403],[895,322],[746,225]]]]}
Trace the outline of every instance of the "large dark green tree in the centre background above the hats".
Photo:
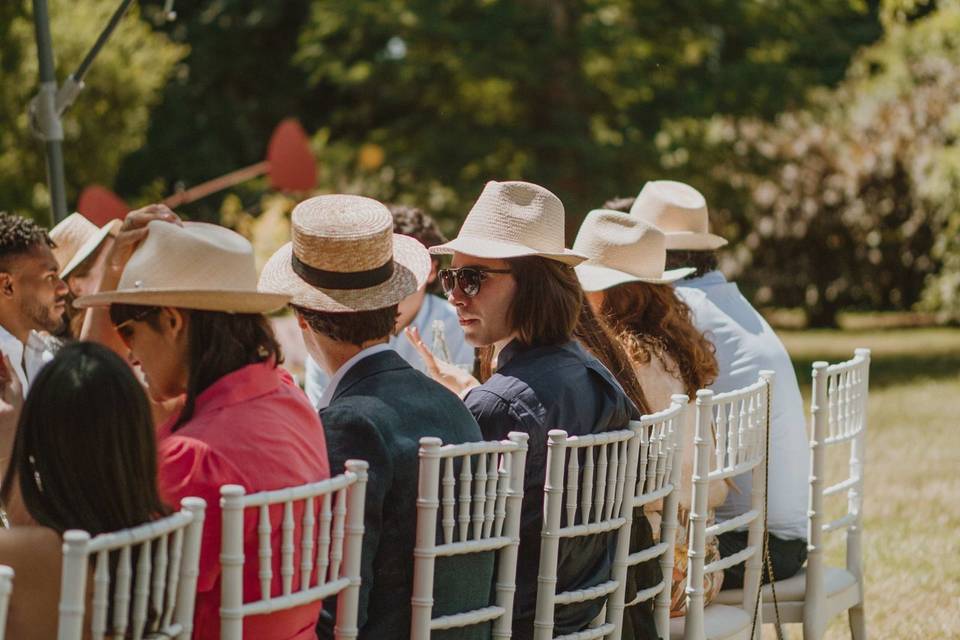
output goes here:
{"type": "MultiPolygon", "coordinates": [[[[323,0],[297,61],[324,148],[374,144],[388,198],[450,216],[490,178],[578,214],[663,166],[665,121],[770,117],[838,81],[876,3],[813,0],[323,0]]],[[[362,163],[361,163],[362,164],[362,163]]]]}

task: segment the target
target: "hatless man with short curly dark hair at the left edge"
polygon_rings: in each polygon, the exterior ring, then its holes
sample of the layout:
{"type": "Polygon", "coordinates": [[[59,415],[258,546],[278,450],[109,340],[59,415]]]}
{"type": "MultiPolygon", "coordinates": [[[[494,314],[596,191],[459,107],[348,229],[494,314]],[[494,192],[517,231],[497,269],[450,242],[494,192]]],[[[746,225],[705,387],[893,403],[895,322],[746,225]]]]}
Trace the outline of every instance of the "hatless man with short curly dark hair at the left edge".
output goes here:
{"type": "Polygon", "coordinates": [[[0,351],[26,393],[53,359],[49,335],[63,325],[67,285],[47,231],[28,218],[0,213],[0,351]]]}

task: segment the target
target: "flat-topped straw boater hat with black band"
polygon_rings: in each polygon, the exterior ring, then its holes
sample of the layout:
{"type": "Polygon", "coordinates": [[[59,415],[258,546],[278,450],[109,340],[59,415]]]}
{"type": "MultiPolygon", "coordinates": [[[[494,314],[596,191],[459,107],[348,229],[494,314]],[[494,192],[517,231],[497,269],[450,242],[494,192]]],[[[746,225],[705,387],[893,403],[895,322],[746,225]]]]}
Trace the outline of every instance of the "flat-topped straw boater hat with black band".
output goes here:
{"type": "Polygon", "coordinates": [[[430,254],[393,233],[390,210],[376,200],[325,195],[304,200],[291,216],[293,242],[260,274],[260,291],[329,313],[390,307],[426,284],[430,254]]]}

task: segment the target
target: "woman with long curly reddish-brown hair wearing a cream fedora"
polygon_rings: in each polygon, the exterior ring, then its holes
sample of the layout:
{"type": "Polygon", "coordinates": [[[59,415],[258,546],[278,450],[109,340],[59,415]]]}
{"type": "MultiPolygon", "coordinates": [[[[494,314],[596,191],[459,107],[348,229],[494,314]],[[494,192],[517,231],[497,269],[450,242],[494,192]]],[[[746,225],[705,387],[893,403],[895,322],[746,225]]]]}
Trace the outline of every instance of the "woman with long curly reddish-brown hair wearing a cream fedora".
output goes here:
{"type": "MultiPolygon", "coordinates": [[[[717,377],[713,345],[693,325],[690,309],[674,293],[671,283],[692,269],[665,271],[663,233],[633,216],[617,211],[591,211],[574,244],[590,256],[575,267],[587,300],[613,330],[633,362],[634,371],[651,411],[670,406],[670,397],[682,393],[695,400],[698,389],[717,377]]],[[[686,544],[693,472],[694,412],[684,427],[683,471],[680,482],[680,525],[677,528],[671,612],[682,615],[685,606],[686,544]]],[[[711,509],[723,503],[727,487],[710,486],[711,509]]],[[[660,509],[659,504],[655,506],[660,509]]],[[[654,516],[648,512],[648,517],[654,516]]],[[[659,518],[651,518],[657,532],[659,518]]],[[[719,558],[716,538],[707,541],[707,562],[719,558]]],[[[705,578],[707,601],[720,591],[719,572],[705,578]]]]}

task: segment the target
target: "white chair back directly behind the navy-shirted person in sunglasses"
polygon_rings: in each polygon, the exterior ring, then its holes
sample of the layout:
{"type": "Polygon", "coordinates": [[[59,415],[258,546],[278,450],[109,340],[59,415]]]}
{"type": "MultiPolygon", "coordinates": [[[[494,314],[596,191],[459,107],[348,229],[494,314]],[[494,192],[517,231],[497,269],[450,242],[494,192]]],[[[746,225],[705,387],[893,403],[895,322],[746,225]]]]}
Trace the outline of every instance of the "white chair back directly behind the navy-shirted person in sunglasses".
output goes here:
{"type": "Polygon", "coordinates": [[[623,618],[633,497],[637,486],[640,422],[629,429],[568,437],[547,434],[547,477],[537,576],[535,640],[553,637],[557,605],[606,598],[605,622],[590,637],[614,634],[623,618]],[[557,593],[560,540],[616,532],[610,580],[557,593]]]}

